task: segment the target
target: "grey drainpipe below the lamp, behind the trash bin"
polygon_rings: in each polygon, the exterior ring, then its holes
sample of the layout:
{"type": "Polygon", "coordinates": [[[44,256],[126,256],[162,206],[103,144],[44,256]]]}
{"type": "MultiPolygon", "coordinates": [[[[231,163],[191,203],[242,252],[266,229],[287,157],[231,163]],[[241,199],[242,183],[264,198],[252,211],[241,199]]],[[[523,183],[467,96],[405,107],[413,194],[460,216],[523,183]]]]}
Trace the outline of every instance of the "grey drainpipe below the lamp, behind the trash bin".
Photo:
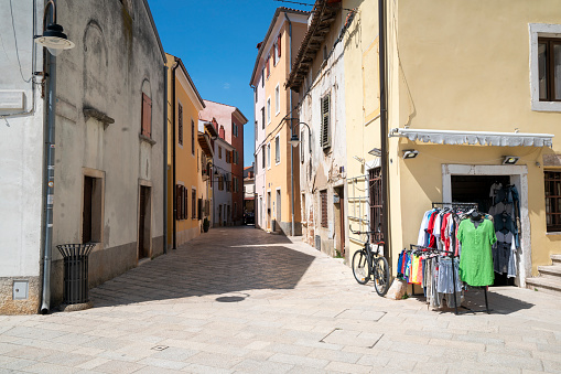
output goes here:
{"type": "Polygon", "coordinates": [[[53,245],[53,200],[54,200],[54,145],[55,145],[55,115],[56,115],[56,56],[47,53],[48,57],[48,92],[47,92],[47,118],[46,118],[46,170],[44,172],[45,194],[43,204],[45,215],[43,222],[43,303],[41,313],[46,314],[51,308],[51,256],[53,245]]]}

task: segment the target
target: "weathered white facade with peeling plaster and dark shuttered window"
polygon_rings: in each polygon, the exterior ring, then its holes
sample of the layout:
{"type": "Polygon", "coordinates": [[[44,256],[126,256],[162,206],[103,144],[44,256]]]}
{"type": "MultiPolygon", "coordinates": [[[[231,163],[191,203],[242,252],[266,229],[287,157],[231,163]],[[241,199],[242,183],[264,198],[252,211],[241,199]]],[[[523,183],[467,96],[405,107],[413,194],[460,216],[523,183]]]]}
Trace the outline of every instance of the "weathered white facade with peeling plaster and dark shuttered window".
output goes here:
{"type": "MultiPolygon", "coordinates": [[[[327,49],[333,46],[333,38],[338,35],[338,29],[332,26],[332,31],[326,36],[327,49]]],[[[327,58],[325,65],[321,65],[317,58],[323,57],[323,45],[314,61],[312,74],[309,74],[305,84],[301,87],[303,93],[300,101],[300,121],[305,122],[312,130],[311,142],[312,153],[310,154],[309,131],[304,126],[299,127],[299,137],[302,142],[298,150],[303,154],[303,163],[300,167],[300,193],[304,194],[305,201],[302,202],[302,221],[308,223],[308,232],[303,229],[303,234],[309,233],[310,228],[314,229],[314,236],[322,237],[322,250],[327,245],[327,250],[333,248],[333,239],[335,237],[335,216],[334,216],[334,186],[345,184],[346,173],[341,172],[341,167],[347,169],[346,162],[346,128],[345,128],[345,84],[344,84],[344,43],[338,43],[335,50],[327,58]],[[310,78],[311,77],[311,78],[310,78]],[[311,81],[311,83],[310,83],[311,81]],[[308,88],[308,89],[306,89],[308,88]],[[331,131],[331,149],[325,152],[321,146],[321,124],[322,108],[321,99],[326,94],[331,94],[330,103],[330,131],[331,131]],[[302,138],[302,130],[304,137],[302,138]],[[303,152],[302,152],[303,149],[303,152]],[[310,178],[310,168],[312,169],[310,178]],[[328,227],[321,226],[321,200],[320,191],[327,190],[327,221],[328,227]],[[310,210],[313,209],[313,227],[310,221],[310,210]]],[[[330,51],[330,50],[327,50],[330,51]]],[[[346,196],[345,196],[346,200],[346,196]]],[[[341,203],[346,206],[345,202],[341,203]]],[[[346,225],[345,225],[346,227],[346,225]]],[[[348,236],[348,235],[347,235],[348,236]]],[[[313,241],[313,238],[308,238],[313,241]]],[[[310,242],[309,242],[310,243],[310,242]]]]}

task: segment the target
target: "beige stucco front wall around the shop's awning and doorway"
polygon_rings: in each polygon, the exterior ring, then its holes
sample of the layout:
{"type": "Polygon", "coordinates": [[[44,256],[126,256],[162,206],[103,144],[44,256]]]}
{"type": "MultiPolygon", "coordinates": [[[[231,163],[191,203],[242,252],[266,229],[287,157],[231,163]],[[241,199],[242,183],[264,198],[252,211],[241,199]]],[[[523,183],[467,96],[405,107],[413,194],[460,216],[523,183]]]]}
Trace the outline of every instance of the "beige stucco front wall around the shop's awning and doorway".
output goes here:
{"type": "Polygon", "coordinates": [[[553,149],[533,147],[427,146],[390,140],[392,252],[414,243],[422,212],[442,199],[442,163],[501,164],[521,157],[528,168],[531,269],[560,253],[559,235],[547,235],[542,154],[560,153],[561,114],[531,110],[529,23],[560,23],[557,1],[399,1],[389,28],[390,128],[557,135],[553,149]],[[393,23],[397,22],[397,23],[393,23]],[[401,159],[403,149],[421,153],[401,159]],[[540,165],[537,165],[537,162],[540,165]]]}

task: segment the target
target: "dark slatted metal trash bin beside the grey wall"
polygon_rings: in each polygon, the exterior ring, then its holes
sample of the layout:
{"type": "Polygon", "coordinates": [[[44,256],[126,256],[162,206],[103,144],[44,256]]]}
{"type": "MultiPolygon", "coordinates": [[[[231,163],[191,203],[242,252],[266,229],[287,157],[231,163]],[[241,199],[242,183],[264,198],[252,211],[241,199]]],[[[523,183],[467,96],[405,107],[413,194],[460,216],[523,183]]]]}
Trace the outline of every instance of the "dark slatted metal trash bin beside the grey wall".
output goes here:
{"type": "Polygon", "coordinates": [[[88,256],[96,246],[93,244],[63,244],[56,248],[64,258],[65,304],[89,301],[88,256]]]}

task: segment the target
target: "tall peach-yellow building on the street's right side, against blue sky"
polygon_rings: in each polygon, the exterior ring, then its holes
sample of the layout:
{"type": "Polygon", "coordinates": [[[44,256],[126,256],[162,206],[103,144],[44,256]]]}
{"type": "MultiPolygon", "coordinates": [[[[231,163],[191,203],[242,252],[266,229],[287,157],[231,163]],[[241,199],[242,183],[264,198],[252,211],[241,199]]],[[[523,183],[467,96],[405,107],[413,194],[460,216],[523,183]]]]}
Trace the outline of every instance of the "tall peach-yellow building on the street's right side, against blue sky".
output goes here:
{"type": "Polygon", "coordinates": [[[259,43],[250,85],[256,92],[256,177],[258,225],[267,231],[301,235],[299,156],[289,143],[291,108],[298,94],[284,87],[302,39],[309,12],[278,8],[265,40],[259,43]],[[259,156],[257,156],[259,154],[259,156]],[[261,162],[261,159],[263,162],[261,162]],[[262,178],[265,175],[265,178],[262,178]]]}

